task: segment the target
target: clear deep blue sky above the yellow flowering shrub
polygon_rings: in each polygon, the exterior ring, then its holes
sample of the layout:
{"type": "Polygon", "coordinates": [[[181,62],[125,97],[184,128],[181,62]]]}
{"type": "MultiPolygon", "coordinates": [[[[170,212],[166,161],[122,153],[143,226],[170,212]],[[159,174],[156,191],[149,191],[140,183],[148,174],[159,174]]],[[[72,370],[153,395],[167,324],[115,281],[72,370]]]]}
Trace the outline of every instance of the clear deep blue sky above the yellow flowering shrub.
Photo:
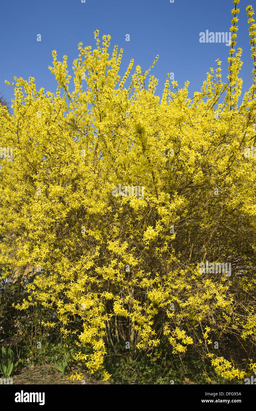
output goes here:
{"type": "MultiPolygon", "coordinates": [[[[245,11],[248,4],[256,9],[255,1],[251,0],[241,0],[238,5],[236,48],[243,49],[242,95],[252,84],[253,69],[245,11]]],[[[44,87],[45,91],[55,91],[57,83],[48,69],[52,65],[51,51],[57,51],[59,60],[65,54],[68,56],[72,75],[78,43],[95,48],[93,32],[99,29],[100,38],[103,34],[111,35],[110,53],[115,44],[124,49],[121,76],[131,58],[134,58],[133,71],[136,65],[148,69],[158,54],[159,60],[152,71],[159,79],[157,95],[162,95],[166,74],[173,72],[180,88],[186,80],[190,81],[191,97],[200,90],[209,68],[217,67],[217,58],[222,61],[222,79],[227,80],[229,47],[225,43],[200,43],[199,33],[229,32],[233,7],[232,0],[3,1],[0,91],[10,102],[14,87],[4,81],[13,81],[14,76],[35,77],[37,90],[44,87]],[[37,34],[41,34],[41,42],[37,42],[37,34]],[[125,41],[126,34],[130,35],[129,42],[125,41]]]]}

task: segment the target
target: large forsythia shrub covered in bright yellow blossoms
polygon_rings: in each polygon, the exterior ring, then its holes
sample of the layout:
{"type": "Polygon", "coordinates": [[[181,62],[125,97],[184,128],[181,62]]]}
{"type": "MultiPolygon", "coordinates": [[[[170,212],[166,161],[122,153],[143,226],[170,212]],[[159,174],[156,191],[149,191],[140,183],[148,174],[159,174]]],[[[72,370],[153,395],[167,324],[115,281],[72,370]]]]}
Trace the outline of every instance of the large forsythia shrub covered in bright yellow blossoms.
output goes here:
{"type": "Polygon", "coordinates": [[[244,156],[256,144],[256,25],[248,6],[253,85],[239,107],[238,2],[228,82],[217,60],[191,99],[189,81],[171,91],[167,76],[161,100],[154,76],[146,87],[158,56],[125,88],[133,60],[121,78],[122,49],[110,57],[96,30],[95,50],[78,45],[74,91],[53,51],[56,93],[15,77],[14,114],[0,107],[1,147],[13,148],[0,163],[0,263],[41,266],[18,307],[54,309],[63,338],[88,349],[75,359],[105,380],[107,350],[127,341],[131,359],[135,346],[198,351],[230,380],[256,366],[256,160],[244,156]],[[231,263],[231,276],[202,273],[206,260],[231,263]]]}

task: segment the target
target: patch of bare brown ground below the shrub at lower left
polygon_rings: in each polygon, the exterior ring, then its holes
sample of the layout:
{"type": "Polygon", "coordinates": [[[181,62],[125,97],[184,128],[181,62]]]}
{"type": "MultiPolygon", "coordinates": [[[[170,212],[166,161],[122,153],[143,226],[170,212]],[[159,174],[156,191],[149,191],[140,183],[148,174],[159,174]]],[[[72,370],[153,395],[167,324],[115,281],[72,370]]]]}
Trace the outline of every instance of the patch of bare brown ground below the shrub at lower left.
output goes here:
{"type": "MultiPolygon", "coordinates": [[[[76,373],[75,369],[71,369],[72,373],[76,373]]],[[[55,384],[81,384],[81,381],[70,381],[68,376],[62,377],[53,365],[42,364],[32,365],[31,367],[23,368],[20,372],[15,373],[12,377],[14,384],[42,384],[42,385],[55,385],[55,384]]],[[[95,380],[93,378],[83,377],[85,384],[111,384],[110,382],[102,382],[101,380],[95,380]]]]}

